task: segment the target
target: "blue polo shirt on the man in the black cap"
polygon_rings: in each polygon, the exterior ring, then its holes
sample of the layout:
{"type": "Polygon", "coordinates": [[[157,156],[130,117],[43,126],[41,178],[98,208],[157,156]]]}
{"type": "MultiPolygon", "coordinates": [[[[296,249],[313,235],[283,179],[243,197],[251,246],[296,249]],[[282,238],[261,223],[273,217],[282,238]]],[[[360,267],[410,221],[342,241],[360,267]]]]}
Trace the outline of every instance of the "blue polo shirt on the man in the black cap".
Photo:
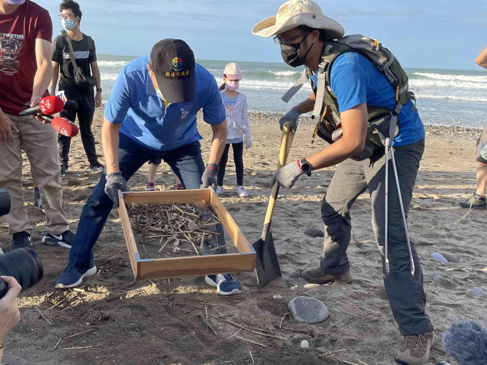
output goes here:
{"type": "Polygon", "coordinates": [[[196,63],[194,68],[194,100],[164,106],[152,84],[148,64],[149,57],[134,59],[123,67],[113,86],[105,118],[121,123],[121,133],[153,150],[170,151],[202,138],[196,128],[196,113],[201,108],[206,123],[225,121],[217,82],[203,66],[196,63]]]}

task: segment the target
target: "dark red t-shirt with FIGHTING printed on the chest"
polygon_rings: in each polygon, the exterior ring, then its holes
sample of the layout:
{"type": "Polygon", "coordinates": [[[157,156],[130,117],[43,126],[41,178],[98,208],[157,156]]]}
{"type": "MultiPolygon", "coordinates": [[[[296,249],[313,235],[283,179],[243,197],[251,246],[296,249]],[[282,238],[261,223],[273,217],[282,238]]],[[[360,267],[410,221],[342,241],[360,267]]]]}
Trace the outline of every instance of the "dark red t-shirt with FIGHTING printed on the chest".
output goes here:
{"type": "Polygon", "coordinates": [[[18,115],[32,97],[37,38],[52,40],[46,9],[27,0],[13,13],[0,14],[0,107],[5,113],[18,115]]]}

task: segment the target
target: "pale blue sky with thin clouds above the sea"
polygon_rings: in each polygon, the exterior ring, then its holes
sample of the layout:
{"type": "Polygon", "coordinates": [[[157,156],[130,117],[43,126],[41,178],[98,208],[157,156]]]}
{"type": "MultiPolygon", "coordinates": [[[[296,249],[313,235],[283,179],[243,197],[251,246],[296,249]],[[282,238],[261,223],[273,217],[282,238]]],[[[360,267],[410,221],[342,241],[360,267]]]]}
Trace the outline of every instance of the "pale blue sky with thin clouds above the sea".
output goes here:
{"type": "MultiPolygon", "coordinates": [[[[34,0],[61,30],[57,0],[34,0]]],[[[148,55],[164,38],[185,40],[199,59],[282,62],[279,46],[252,35],[275,15],[275,0],[80,0],[81,30],[97,53],[148,55]]],[[[322,0],[324,15],[346,34],[378,39],[405,67],[481,69],[474,62],[487,46],[483,0],[322,0]]]]}

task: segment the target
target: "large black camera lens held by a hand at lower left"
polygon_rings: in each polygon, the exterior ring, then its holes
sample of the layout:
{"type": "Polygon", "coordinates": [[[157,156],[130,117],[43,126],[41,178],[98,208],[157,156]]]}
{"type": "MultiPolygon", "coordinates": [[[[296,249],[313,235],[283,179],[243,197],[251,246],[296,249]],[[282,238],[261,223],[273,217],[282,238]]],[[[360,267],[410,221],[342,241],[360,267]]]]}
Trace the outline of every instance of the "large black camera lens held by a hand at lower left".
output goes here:
{"type": "MultiPolygon", "coordinates": [[[[36,285],[44,274],[41,259],[36,251],[22,247],[0,255],[0,274],[14,277],[22,290],[36,285]]],[[[0,282],[0,298],[8,291],[5,282],[0,282]]]]}

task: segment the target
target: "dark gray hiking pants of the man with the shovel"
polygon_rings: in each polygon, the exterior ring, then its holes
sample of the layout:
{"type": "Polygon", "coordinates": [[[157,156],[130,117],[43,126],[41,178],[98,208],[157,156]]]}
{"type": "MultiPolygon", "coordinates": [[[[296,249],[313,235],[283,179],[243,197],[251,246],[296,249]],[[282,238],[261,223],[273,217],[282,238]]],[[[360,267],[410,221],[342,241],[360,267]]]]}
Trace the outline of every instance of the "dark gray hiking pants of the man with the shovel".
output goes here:
{"type": "MultiPolygon", "coordinates": [[[[425,149],[424,139],[395,148],[395,158],[404,207],[409,209],[416,173],[425,149]]],[[[389,160],[389,232],[388,251],[390,273],[385,271],[385,163],[384,150],[369,159],[348,159],[338,164],[330,186],[323,198],[322,217],[325,242],[321,268],[331,274],[341,274],[350,268],[346,249],[352,231],[350,207],[357,197],[369,191],[372,199],[372,228],[382,253],[382,271],[389,304],[402,335],[418,335],[432,329],[425,313],[426,296],[418,252],[411,243],[415,274],[410,273],[409,250],[401,217],[392,162],[389,160]]]]}

